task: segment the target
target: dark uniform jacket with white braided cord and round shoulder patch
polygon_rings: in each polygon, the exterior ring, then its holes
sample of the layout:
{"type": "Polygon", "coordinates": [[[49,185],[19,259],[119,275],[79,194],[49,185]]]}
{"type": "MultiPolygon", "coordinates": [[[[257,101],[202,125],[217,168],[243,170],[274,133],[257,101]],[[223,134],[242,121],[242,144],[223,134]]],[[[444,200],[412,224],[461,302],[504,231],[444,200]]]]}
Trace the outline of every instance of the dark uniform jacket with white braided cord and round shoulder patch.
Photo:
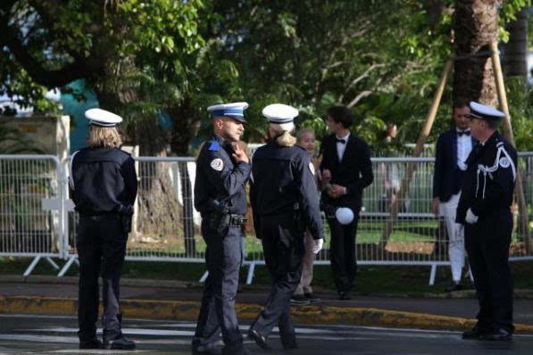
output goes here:
{"type": "Polygon", "coordinates": [[[467,159],[456,222],[465,224],[471,209],[479,220],[495,211],[509,210],[516,181],[517,153],[498,132],[485,144],[476,144],[467,159]]]}

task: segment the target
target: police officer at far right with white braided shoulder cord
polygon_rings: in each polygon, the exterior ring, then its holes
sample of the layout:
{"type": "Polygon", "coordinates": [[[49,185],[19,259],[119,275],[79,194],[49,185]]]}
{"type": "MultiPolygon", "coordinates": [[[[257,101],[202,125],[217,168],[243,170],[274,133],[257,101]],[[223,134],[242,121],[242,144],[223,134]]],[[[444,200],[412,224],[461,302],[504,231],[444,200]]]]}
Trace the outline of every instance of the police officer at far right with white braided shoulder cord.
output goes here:
{"type": "Polygon", "coordinates": [[[464,225],[479,313],[476,326],[462,337],[510,340],[513,285],[508,259],[517,153],[496,131],[504,113],[480,103],[470,106],[471,134],[479,143],[466,161],[456,221],[464,225]]]}

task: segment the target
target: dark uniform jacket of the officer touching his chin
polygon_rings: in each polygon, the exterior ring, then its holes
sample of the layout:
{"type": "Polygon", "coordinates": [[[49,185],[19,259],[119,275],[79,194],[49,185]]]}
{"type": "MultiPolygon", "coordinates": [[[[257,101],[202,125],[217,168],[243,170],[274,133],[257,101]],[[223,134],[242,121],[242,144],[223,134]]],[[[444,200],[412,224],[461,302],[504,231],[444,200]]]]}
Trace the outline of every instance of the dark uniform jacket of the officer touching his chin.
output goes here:
{"type": "Polygon", "coordinates": [[[212,135],[198,154],[195,208],[203,217],[213,211],[246,213],[246,182],[251,168],[245,161],[234,163],[231,160],[233,152],[221,136],[212,135]]]}

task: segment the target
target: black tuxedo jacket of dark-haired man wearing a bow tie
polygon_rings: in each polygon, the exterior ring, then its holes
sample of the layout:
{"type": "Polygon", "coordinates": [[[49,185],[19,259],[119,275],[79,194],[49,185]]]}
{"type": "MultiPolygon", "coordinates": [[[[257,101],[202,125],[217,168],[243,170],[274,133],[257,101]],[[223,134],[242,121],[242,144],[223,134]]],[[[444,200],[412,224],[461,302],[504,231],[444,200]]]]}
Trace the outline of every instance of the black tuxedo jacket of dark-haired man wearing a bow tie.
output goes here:
{"type": "Polygon", "coordinates": [[[369,147],[353,133],[348,137],[342,161],[338,160],[337,140],[335,134],[324,138],[322,145],[321,170],[331,171],[330,184],[346,187],[346,194],[332,199],[322,193],[324,206],[346,206],[359,211],[362,201],[362,190],[370,186],[374,180],[372,173],[371,153],[369,147]]]}

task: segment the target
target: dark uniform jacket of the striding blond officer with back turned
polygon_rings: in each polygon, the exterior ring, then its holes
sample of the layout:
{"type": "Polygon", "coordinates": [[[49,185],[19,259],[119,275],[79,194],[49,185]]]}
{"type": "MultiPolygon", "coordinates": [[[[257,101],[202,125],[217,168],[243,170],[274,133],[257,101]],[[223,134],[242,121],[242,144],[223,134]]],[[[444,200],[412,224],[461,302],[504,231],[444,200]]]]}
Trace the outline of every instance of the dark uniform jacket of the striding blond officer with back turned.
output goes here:
{"type": "Polygon", "coordinates": [[[258,238],[262,216],[300,213],[314,239],[324,236],[314,166],[304,148],[275,141],[258,148],[252,163],[250,202],[258,238]]]}

